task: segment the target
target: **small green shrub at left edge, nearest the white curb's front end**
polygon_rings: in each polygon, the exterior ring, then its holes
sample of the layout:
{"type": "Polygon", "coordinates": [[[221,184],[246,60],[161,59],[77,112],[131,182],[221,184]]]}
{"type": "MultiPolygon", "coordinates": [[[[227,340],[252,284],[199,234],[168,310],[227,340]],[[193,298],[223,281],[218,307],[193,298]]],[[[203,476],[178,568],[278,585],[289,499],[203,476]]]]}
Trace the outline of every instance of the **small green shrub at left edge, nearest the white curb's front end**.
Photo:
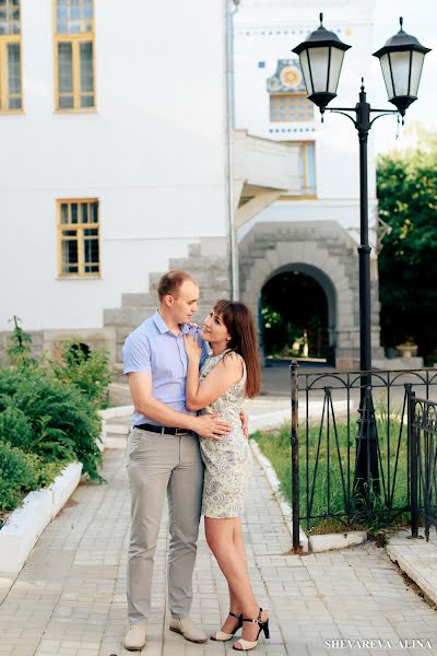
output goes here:
{"type": "Polygon", "coordinates": [[[20,505],[23,493],[37,488],[32,456],[0,442],[0,511],[20,505]]]}

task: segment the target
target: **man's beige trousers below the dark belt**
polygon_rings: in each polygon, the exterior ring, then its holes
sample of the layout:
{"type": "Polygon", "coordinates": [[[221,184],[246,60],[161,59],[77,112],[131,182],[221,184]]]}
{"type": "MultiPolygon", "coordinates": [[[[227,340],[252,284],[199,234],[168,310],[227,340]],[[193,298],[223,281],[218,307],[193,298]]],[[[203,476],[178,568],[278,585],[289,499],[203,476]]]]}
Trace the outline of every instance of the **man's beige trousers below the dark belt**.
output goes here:
{"type": "Polygon", "coordinates": [[[145,622],[151,607],[153,561],[164,506],[169,509],[168,604],[174,618],[187,618],[203,487],[203,462],[194,435],[166,435],[132,429],[127,449],[131,491],[128,554],[128,616],[145,622]]]}

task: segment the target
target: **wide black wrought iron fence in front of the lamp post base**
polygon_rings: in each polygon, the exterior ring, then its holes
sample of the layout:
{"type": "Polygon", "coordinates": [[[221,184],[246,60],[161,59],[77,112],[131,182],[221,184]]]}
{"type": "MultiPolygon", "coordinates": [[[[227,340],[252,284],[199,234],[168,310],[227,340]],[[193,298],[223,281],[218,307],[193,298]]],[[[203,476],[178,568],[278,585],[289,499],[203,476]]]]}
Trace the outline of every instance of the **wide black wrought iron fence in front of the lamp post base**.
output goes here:
{"type": "MultiPolygon", "coordinates": [[[[294,549],[299,549],[300,522],[311,532],[321,520],[350,526],[363,515],[394,518],[410,512],[410,399],[417,393],[426,402],[437,401],[437,371],[300,373],[294,362],[291,373],[294,549]],[[367,467],[358,481],[362,448],[367,467]],[[366,494],[357,495],[357,483],[366,494]]],[[[435,493],[434,487],[434,500],[435,493]]]]}

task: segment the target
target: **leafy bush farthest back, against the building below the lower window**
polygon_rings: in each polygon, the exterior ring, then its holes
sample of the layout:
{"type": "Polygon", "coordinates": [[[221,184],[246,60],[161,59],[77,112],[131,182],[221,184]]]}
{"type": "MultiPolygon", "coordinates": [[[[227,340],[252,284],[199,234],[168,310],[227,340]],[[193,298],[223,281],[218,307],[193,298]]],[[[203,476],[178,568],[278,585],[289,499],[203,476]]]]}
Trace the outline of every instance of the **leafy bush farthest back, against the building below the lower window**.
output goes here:
{"type": "Polygon", "coordinates": [[[50,364],[58,380],[75,385],[88,401],[98,408],[107,408],[113,371],[106,350],[85,351],[79,342],[66,341],[60,359],[50,364]]]}

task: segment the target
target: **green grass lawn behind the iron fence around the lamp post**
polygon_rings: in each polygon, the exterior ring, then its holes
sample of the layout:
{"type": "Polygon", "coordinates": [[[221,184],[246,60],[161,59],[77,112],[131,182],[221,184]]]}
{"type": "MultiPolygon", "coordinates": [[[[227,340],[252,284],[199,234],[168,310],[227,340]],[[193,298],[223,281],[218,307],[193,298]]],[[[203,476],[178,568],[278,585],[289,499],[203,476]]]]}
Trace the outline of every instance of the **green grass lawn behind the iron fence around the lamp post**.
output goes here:
{"type": "MultiPolygon", "coordinates": [[[[399,440],[400,426],[399,415],[392,415],[388,420],[387,415],[377,412],[381,496],[375,500],[371,516],[358,517],[351,512],[350,520],[345,508],[347,499],[353,499],[351,491],[354,483],[356,422],[351,420],[350,431],[346,422],[338,423],[336,432],[330,424],[329,434],[326,423],[321,429],[319,424],[310,424],[307,434],[305,425],[299,426],[299,509],[305,530],[330,532],[347,527],[378,532],[385,527],[394,528],[405,524],[405,514],[397,514],[393,518],[386,509],[387,505],[401,508],[408,501],[406,426],[403,426],[399,440]]],[[[274,431],[257,432],[251,437],[271,461],[281,482],[281,492],[292,505],[290,424],[274,431]]]]}

